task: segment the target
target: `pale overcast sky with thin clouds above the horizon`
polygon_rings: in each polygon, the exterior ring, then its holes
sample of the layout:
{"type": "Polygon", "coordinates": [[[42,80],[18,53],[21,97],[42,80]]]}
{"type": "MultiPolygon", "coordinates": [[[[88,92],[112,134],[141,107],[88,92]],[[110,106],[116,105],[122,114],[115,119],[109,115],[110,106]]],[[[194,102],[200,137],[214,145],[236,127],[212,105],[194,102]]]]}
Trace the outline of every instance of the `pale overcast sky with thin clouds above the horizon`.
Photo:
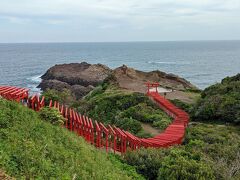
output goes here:
{"type": "Polygon", "coordinates": [[[240,0],[0,0],[0,42],[240,39],[240,0]]]}

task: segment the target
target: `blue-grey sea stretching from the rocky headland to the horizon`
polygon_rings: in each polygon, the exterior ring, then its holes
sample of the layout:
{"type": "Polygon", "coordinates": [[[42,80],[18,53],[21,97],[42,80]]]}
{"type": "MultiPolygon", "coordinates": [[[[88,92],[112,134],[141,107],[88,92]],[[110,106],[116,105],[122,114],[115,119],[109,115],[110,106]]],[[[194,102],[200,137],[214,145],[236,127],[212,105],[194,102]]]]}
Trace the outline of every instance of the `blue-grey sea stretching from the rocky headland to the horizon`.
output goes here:
{"type": "Polygon", "coordinates": [[[0,44],[0,85],[39,91],[49,67],[82,61],[158,69],[204,89],[240,72],[240,41],[0,44]]]}

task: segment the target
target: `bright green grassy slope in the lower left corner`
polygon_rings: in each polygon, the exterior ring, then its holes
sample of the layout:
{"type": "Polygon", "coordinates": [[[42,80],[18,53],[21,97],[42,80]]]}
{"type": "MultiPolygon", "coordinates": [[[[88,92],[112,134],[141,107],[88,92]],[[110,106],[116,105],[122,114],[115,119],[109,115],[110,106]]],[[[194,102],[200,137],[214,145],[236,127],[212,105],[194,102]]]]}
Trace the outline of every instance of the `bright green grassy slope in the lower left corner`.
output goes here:
{"type": "Polygon", "coordinates": [[[17,179],[141,179],[131,166],[96,150],[14,102],[0,99],[0,170],[17,179]]]}

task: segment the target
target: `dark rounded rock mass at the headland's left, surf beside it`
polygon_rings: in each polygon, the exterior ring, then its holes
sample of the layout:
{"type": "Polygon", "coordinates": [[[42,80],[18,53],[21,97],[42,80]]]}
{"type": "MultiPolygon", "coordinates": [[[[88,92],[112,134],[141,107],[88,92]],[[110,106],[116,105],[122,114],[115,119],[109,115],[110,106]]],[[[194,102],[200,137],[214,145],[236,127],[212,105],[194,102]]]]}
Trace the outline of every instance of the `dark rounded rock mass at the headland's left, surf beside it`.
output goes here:
{"type": "Polygon", "coordinates": [[[42,90],[64,88],[70,89],[77,99],[86,95],[100,84],[112,72],[102,64],[71,63],[55,65],[41,77],[39,88],[42,90]]]}

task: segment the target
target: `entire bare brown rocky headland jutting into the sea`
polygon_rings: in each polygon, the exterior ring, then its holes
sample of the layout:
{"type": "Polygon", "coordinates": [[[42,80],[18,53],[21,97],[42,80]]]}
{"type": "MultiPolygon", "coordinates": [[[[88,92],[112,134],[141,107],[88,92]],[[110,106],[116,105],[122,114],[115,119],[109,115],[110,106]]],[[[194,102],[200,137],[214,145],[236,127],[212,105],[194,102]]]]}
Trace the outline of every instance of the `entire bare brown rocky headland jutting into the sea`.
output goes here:
{"type": "Polygon", "coordinates": [[[109,75],[115,77],[113,81],[120,88],[135,92],[146,92],[145,82],[160,82],[162,87],[179,91],[197,89],[185,79],[161,71],[143,72],[125,65],[112,70],[102,64],[86,62],[51,67],[41,77],[42,82],[38,87],[42,90],[69,89],[79,99],[102,83],[109,75]]]}

